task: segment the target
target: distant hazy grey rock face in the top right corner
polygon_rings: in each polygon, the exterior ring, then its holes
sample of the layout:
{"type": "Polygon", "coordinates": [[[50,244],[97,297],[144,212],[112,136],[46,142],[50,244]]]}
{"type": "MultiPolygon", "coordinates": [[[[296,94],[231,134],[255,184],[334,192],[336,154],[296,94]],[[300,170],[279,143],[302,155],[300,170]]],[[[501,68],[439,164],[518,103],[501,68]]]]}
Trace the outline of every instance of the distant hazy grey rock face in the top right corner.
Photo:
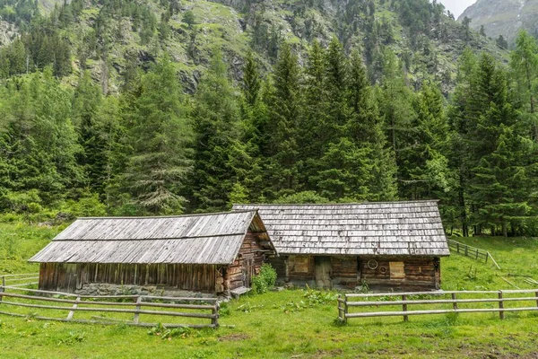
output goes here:
{"type": "Polygon", "coordinates": [[[479,31],[483,25],[492,39],[502,35],[510,43],[519,29],[538,34],[538,0],[478,0],[460,15],[458,22],[465,16],[472,20],[472,29],[479,31]]]}

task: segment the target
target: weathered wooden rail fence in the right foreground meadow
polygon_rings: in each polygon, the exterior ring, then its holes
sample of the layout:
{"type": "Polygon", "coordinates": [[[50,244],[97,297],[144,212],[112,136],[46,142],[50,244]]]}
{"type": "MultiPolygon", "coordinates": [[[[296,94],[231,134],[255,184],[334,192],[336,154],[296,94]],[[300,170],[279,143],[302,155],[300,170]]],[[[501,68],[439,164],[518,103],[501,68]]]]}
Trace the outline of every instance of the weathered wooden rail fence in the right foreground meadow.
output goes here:
{"type": "Polygon", "coordinates": [[[410,315],[499,312],[499,318],[505,318],[507,311],[538,311],[538,289],[508,291],[451,291],[451,292],[411,292],[411,293],[368,293],[344,294],[338,298],[338,319],[347,322],[350,318],[403,316],[404,321],[410,315]],[[528,295],[530,294],[530,295],[528,295]],[[472,295],[473,298],[469,298],[472,295]],[[431,299],[440,296],[441,299],[431,299]],[[478,297],[478,298],[477,298],[478,297]],[[525,302],[525,306],[506,305],[525,302]],[[488,304],[493,303],[493,305],[488,304]],[[529,303],[533,305],[530,306],[529,303]],[[468,305],[472,304],[471,307],[468,305]],[[434,306],[425,310],[412,310],[410,306],[434,306]],[[484,308],[484,305],[492,308],[484,308]],[[448,306],[448,308],[447,308],[448,306]],[[462,308],[465,306],[465,308],[462,308]],[[370,311],[375,307],[375,311],[370,311]],[[353,311],[354,309],[360,311],[353,311]],[[383,308],[383,310],[378,310],[383,308]],[[401,308],[401,309],[400,309],[401,308]]]}

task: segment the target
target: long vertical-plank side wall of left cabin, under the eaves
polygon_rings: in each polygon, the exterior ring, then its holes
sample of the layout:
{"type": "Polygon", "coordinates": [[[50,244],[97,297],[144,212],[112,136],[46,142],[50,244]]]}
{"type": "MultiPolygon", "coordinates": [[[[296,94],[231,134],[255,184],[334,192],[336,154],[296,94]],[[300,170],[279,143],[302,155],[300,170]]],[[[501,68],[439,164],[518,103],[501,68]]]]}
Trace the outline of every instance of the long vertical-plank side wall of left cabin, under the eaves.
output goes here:
{"type": "Polygon", "coordinates": [[[74,292],[88,283],[162,285],[181,290],[214,292],[214,265],[41,263],[39,289],[74,292]]]}

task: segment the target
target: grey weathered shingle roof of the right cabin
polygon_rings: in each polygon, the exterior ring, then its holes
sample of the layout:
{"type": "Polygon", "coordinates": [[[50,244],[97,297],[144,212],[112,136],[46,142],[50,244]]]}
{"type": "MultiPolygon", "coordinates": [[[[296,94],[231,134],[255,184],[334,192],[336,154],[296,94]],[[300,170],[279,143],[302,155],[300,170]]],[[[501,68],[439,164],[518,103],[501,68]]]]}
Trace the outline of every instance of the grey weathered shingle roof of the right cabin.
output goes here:
{"type": "Polygon", "coordinates": [[[450,254],[437,201],[234,205],[233,209],[257,209],[280,254],[450,254]]]}

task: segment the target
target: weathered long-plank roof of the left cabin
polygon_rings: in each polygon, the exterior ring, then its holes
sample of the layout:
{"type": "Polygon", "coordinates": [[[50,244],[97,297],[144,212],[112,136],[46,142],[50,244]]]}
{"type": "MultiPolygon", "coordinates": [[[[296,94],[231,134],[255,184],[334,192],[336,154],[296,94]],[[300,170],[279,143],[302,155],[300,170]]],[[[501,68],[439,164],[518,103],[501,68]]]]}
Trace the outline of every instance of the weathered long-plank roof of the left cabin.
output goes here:
{"type": "Polygon", "coordinates": [[[30,262],[230,264],[249,228],[265,232],[256,210],[81,218],[30,262]]]}

